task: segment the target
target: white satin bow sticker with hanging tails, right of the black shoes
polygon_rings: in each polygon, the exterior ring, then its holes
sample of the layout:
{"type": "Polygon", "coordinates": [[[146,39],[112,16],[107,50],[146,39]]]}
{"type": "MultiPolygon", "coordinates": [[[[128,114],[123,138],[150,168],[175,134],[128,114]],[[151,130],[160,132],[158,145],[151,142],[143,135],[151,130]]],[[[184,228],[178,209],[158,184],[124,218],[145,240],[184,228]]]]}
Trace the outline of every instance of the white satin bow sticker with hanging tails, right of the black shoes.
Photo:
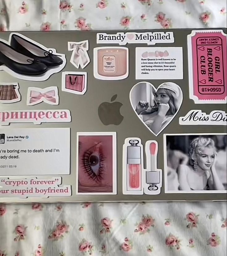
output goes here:
{"type": "Polygon", "coordinates": [[[73,51],[70,62],[76,67],[85,68],[90,62],[88,56],[89,42],[88,40],[82,42],[68,42],[68,50],[73,51]]]}

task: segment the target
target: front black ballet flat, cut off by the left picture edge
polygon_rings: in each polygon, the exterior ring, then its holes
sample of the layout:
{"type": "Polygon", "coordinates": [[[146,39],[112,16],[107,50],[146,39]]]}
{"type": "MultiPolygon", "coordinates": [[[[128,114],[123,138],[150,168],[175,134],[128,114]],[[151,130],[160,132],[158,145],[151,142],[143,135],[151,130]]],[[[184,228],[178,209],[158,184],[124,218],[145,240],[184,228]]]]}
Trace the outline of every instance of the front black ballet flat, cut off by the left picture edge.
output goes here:
{"type": "Polygon", "coordinates": [[[41,75],[48,70],[44,63],[15,51],[10,45],[2,41],[0,41],[1,65],[5,65],[15,73],[26,76],[41,75]]]}

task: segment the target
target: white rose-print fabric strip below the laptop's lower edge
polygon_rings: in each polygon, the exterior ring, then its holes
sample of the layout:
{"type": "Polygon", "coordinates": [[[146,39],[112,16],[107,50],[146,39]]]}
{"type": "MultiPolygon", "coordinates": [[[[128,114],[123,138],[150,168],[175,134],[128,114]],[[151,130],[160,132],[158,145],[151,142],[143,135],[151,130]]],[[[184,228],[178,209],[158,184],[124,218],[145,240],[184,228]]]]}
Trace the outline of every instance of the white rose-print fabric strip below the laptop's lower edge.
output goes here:
{"type": "Polygon", "coordinates": [[[0,251],[4,256],[226,254],[227,209],[223,202],[174,202],[167,206],[162,202],[36,203],[0,207],[4,212],[0,216],[0,251]],[[8,246],[8,239],[13,246],[8,246]]]}

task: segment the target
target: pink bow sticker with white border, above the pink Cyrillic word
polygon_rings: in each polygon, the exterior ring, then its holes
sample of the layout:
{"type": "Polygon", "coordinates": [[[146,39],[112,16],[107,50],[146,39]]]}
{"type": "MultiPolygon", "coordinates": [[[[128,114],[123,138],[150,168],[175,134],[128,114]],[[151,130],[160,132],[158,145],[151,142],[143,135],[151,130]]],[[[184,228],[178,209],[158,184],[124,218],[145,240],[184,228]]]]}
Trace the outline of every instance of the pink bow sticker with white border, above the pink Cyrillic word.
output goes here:
{"type": "Polygon", "coordinates": [[[51,105],[59,104],[57,86],[50,86],[44,89],[38,87],[29,87],[27,91],[27,105],[35,105],[45,102],[51,105]]]}

